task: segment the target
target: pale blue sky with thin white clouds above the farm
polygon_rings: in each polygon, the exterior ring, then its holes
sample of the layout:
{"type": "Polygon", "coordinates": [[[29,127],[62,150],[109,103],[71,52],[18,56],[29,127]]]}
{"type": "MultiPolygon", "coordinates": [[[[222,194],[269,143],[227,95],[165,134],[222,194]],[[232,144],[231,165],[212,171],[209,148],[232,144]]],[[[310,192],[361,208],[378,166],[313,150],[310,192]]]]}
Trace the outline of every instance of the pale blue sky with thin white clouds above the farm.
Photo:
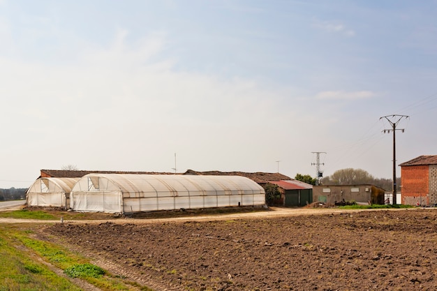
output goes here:
{"type": "Polygon", "coordinates": [[[436,0],[0,0],[0,188],[68,165],[316,177],[315,152],[324,177],[391,179],[390,121],[397,165],[437,154],[435,15],[436,0]]]}

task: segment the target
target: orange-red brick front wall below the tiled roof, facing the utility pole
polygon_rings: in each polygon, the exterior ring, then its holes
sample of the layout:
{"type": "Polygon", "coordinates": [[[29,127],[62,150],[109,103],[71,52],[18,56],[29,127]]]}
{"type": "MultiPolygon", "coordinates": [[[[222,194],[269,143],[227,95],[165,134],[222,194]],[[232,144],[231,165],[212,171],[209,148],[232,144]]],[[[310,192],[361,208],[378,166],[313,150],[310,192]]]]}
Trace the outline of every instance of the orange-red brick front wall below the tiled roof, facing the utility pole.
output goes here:
{"type": "Polygon", "coordinates": [[[429,204],[429,166],[401,167],[402,204],[429,204]]]}

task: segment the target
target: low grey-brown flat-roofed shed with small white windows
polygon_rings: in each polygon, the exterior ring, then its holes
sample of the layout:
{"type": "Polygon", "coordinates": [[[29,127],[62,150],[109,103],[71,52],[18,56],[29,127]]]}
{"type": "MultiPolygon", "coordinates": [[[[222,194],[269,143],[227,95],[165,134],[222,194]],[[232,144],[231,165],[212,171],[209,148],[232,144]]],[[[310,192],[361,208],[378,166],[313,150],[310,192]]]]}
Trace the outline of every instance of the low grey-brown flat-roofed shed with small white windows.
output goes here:
{"type": "Polygon", "coordinates": [[[373,185],[313,186],[313,201],[335,204],[355,201],[363,204],[384,204],[385,190],[373,185]]]}

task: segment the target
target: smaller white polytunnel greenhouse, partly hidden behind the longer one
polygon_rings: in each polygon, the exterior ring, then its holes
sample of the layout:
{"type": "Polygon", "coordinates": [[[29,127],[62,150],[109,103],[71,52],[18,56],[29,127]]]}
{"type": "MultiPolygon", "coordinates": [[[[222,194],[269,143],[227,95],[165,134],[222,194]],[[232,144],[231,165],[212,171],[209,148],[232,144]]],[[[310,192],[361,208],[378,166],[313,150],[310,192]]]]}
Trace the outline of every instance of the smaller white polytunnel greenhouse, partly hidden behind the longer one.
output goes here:
{"type": "Polygon", "coordinates": [[[70,205],[71,189],[79,178],[39,178],[26,191],[29,206],[64,207],[70,205]]]}

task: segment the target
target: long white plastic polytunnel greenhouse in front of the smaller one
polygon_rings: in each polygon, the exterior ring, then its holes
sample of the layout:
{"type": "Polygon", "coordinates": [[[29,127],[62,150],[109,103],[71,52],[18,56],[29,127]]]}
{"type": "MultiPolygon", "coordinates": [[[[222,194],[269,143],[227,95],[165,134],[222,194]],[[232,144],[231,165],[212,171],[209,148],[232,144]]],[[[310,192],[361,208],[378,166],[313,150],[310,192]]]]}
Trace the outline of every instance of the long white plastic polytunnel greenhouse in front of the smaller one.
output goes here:
{"type": "Polygon", "coordinates": [[[70,200],[73,211],[121,214],[264,204],[264,188],[249,178],[178,174],[87,174],[70,200]]]}

